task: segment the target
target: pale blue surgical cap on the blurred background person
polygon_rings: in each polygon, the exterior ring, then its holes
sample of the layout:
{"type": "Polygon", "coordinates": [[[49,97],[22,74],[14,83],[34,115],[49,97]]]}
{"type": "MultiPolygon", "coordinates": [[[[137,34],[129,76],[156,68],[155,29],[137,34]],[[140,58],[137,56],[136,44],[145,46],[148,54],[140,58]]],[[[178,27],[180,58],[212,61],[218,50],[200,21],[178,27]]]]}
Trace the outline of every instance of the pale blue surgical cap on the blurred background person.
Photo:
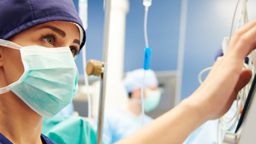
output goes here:
{"type": "MultiPolygon", "coordinates": [[[[127,72],[127,76],[123,79],[123,84],[128,93],[131,93],[134,88],[141,88],[144,72],[142,68],[127,72]]],[[[158,80],[153,70],[146,71],[144,86],[158,86],[158,80]]]]}

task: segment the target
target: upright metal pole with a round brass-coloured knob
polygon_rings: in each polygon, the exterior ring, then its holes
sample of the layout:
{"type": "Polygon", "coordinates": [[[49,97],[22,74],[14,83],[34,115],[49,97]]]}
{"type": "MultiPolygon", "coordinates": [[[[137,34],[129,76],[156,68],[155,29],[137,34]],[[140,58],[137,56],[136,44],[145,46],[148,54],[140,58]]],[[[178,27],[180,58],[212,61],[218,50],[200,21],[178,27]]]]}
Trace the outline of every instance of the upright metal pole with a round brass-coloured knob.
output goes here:
{"type": "Polygon", "coordinates": [[[104,121],[104,102],[106,97],[106,66],[108,64],[108,37],[110,27],[110,8],[111,0],[106,0],[105,19],[104,19],[104,40],[103,40],[103,62],[89,60],[86,66],[88,76],[100,76],[100,103],[98,113],[98,137],[97,144],[102,144],[103,121],[104,121]]]}

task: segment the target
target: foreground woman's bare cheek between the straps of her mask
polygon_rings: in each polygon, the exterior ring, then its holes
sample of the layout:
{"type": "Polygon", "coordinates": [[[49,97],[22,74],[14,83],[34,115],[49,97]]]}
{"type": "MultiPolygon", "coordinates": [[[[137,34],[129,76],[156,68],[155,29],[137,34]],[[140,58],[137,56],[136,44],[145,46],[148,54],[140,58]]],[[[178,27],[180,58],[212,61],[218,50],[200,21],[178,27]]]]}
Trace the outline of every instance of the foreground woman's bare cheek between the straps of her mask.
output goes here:
{"type": "Polygon", "coordinates": [[[22,64],[22,59],[19,50],[13,50],[11,48],[6,48],[4,56],[5,77],[8,85],[19,80],[24,73],[24,66],[22,64]]]}

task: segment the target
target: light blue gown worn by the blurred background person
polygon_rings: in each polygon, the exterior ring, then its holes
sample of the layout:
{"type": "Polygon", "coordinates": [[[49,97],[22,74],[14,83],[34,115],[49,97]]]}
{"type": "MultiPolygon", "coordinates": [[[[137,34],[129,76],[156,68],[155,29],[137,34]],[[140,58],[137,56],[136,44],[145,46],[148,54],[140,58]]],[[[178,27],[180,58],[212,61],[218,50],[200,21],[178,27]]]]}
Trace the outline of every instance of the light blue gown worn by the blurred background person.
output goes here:
{"type": "MultiPolygon", "coordinates": [[[[147,115],[143,118],[143,126],[154,119],[147,115]]],[[[106,143],[115,143],[141,129],[141,117],[129,113],[123,108],[115,108],[104,114],[103,139],[106,143]]]]}

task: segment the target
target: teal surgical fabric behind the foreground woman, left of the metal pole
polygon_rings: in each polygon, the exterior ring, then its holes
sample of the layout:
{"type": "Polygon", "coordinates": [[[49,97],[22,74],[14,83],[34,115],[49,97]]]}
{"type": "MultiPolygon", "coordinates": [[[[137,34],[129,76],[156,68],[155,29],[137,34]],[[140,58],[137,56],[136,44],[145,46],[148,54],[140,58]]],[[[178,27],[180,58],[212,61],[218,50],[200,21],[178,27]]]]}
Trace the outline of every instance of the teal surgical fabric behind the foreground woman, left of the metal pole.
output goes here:
{"type": "Polygon", "coordinates": [[[96,131],[83,117],[44,118],[42,134],[58,144],[96,144],[96,131]]]}

